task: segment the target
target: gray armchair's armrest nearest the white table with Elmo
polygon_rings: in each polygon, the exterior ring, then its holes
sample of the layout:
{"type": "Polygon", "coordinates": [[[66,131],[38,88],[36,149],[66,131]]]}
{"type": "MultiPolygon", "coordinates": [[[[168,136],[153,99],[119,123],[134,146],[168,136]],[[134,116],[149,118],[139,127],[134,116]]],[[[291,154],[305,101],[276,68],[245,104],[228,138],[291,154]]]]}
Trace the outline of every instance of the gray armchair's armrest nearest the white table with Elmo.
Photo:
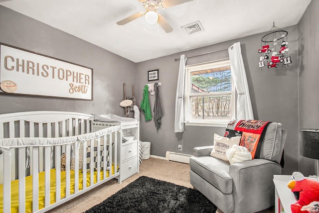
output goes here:
{"type": "Polygon", "coordinates": [[[274,205],[273,177],[281,174],[278,163],[265,159],[234,163],[229,166],[229,174],[233,179],[236,212],[256,212],[274,205]]]}

